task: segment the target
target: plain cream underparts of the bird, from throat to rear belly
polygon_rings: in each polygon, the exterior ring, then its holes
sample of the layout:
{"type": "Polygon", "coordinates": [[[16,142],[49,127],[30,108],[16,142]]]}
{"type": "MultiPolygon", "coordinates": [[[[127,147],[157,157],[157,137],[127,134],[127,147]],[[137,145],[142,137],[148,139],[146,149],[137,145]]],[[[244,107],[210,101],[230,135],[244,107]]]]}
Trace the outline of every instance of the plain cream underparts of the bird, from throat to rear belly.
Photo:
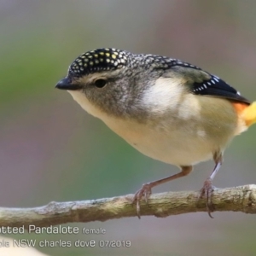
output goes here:
{"type": "MultiPolygon", "coordinates": [[[[191,106],[183,107],[183,111],[179,111],[176,119],[173,119],[174,111],[169,110],[165,118],[152,124],[109,116],[93,106],[81,92],[72,90],[69,93],[85,111],[102,119],[110,129],[138,151],[155,160],[175,166],[190,166],[212,159],[212,154],[217,150],[222,151],[236,131],[236,117],[233,116],[236,113],[232,110],[230,102],[222,99],[215,98],[212,106],[216,106],[216,100],[223,105],[224,109],[219,113],[219,119],[228,117],[224,126],[222,121],[218,124],[216,118],[214,118],[215,123],[212,123],[206,108],[197,108],[201,113],[194,113],[189,117],[187,112],[190,111],[191,106]],[[225,111],[225,108],[228,111],[225,111]],[[201,118],[199,119],[198,116],[201,118]]],[[[211,110],[211,98],[207,98],[207,102],[210,102],[208,106],[211,110]]]]}

